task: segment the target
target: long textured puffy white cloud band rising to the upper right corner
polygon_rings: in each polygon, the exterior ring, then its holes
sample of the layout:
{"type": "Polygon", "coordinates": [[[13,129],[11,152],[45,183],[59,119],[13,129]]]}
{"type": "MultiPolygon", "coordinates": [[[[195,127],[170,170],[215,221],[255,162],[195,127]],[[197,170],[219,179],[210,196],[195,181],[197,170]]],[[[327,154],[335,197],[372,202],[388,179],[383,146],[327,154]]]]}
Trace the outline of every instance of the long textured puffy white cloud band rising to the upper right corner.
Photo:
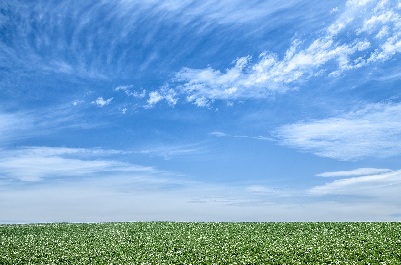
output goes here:
{"type": "Polygon", "coordinates": [[[306,40],[294,39],[283,58],[264,51],[233,60],[223,71],[184,67],[171,87],[186,101],[210,107],[213,100],[266,98],[297,89],[312,76],[328,78],[346,71],[381,63],[401,51],[401,16],[397,2],[349,0],[338,19],[303,48],[306,40]]]}

